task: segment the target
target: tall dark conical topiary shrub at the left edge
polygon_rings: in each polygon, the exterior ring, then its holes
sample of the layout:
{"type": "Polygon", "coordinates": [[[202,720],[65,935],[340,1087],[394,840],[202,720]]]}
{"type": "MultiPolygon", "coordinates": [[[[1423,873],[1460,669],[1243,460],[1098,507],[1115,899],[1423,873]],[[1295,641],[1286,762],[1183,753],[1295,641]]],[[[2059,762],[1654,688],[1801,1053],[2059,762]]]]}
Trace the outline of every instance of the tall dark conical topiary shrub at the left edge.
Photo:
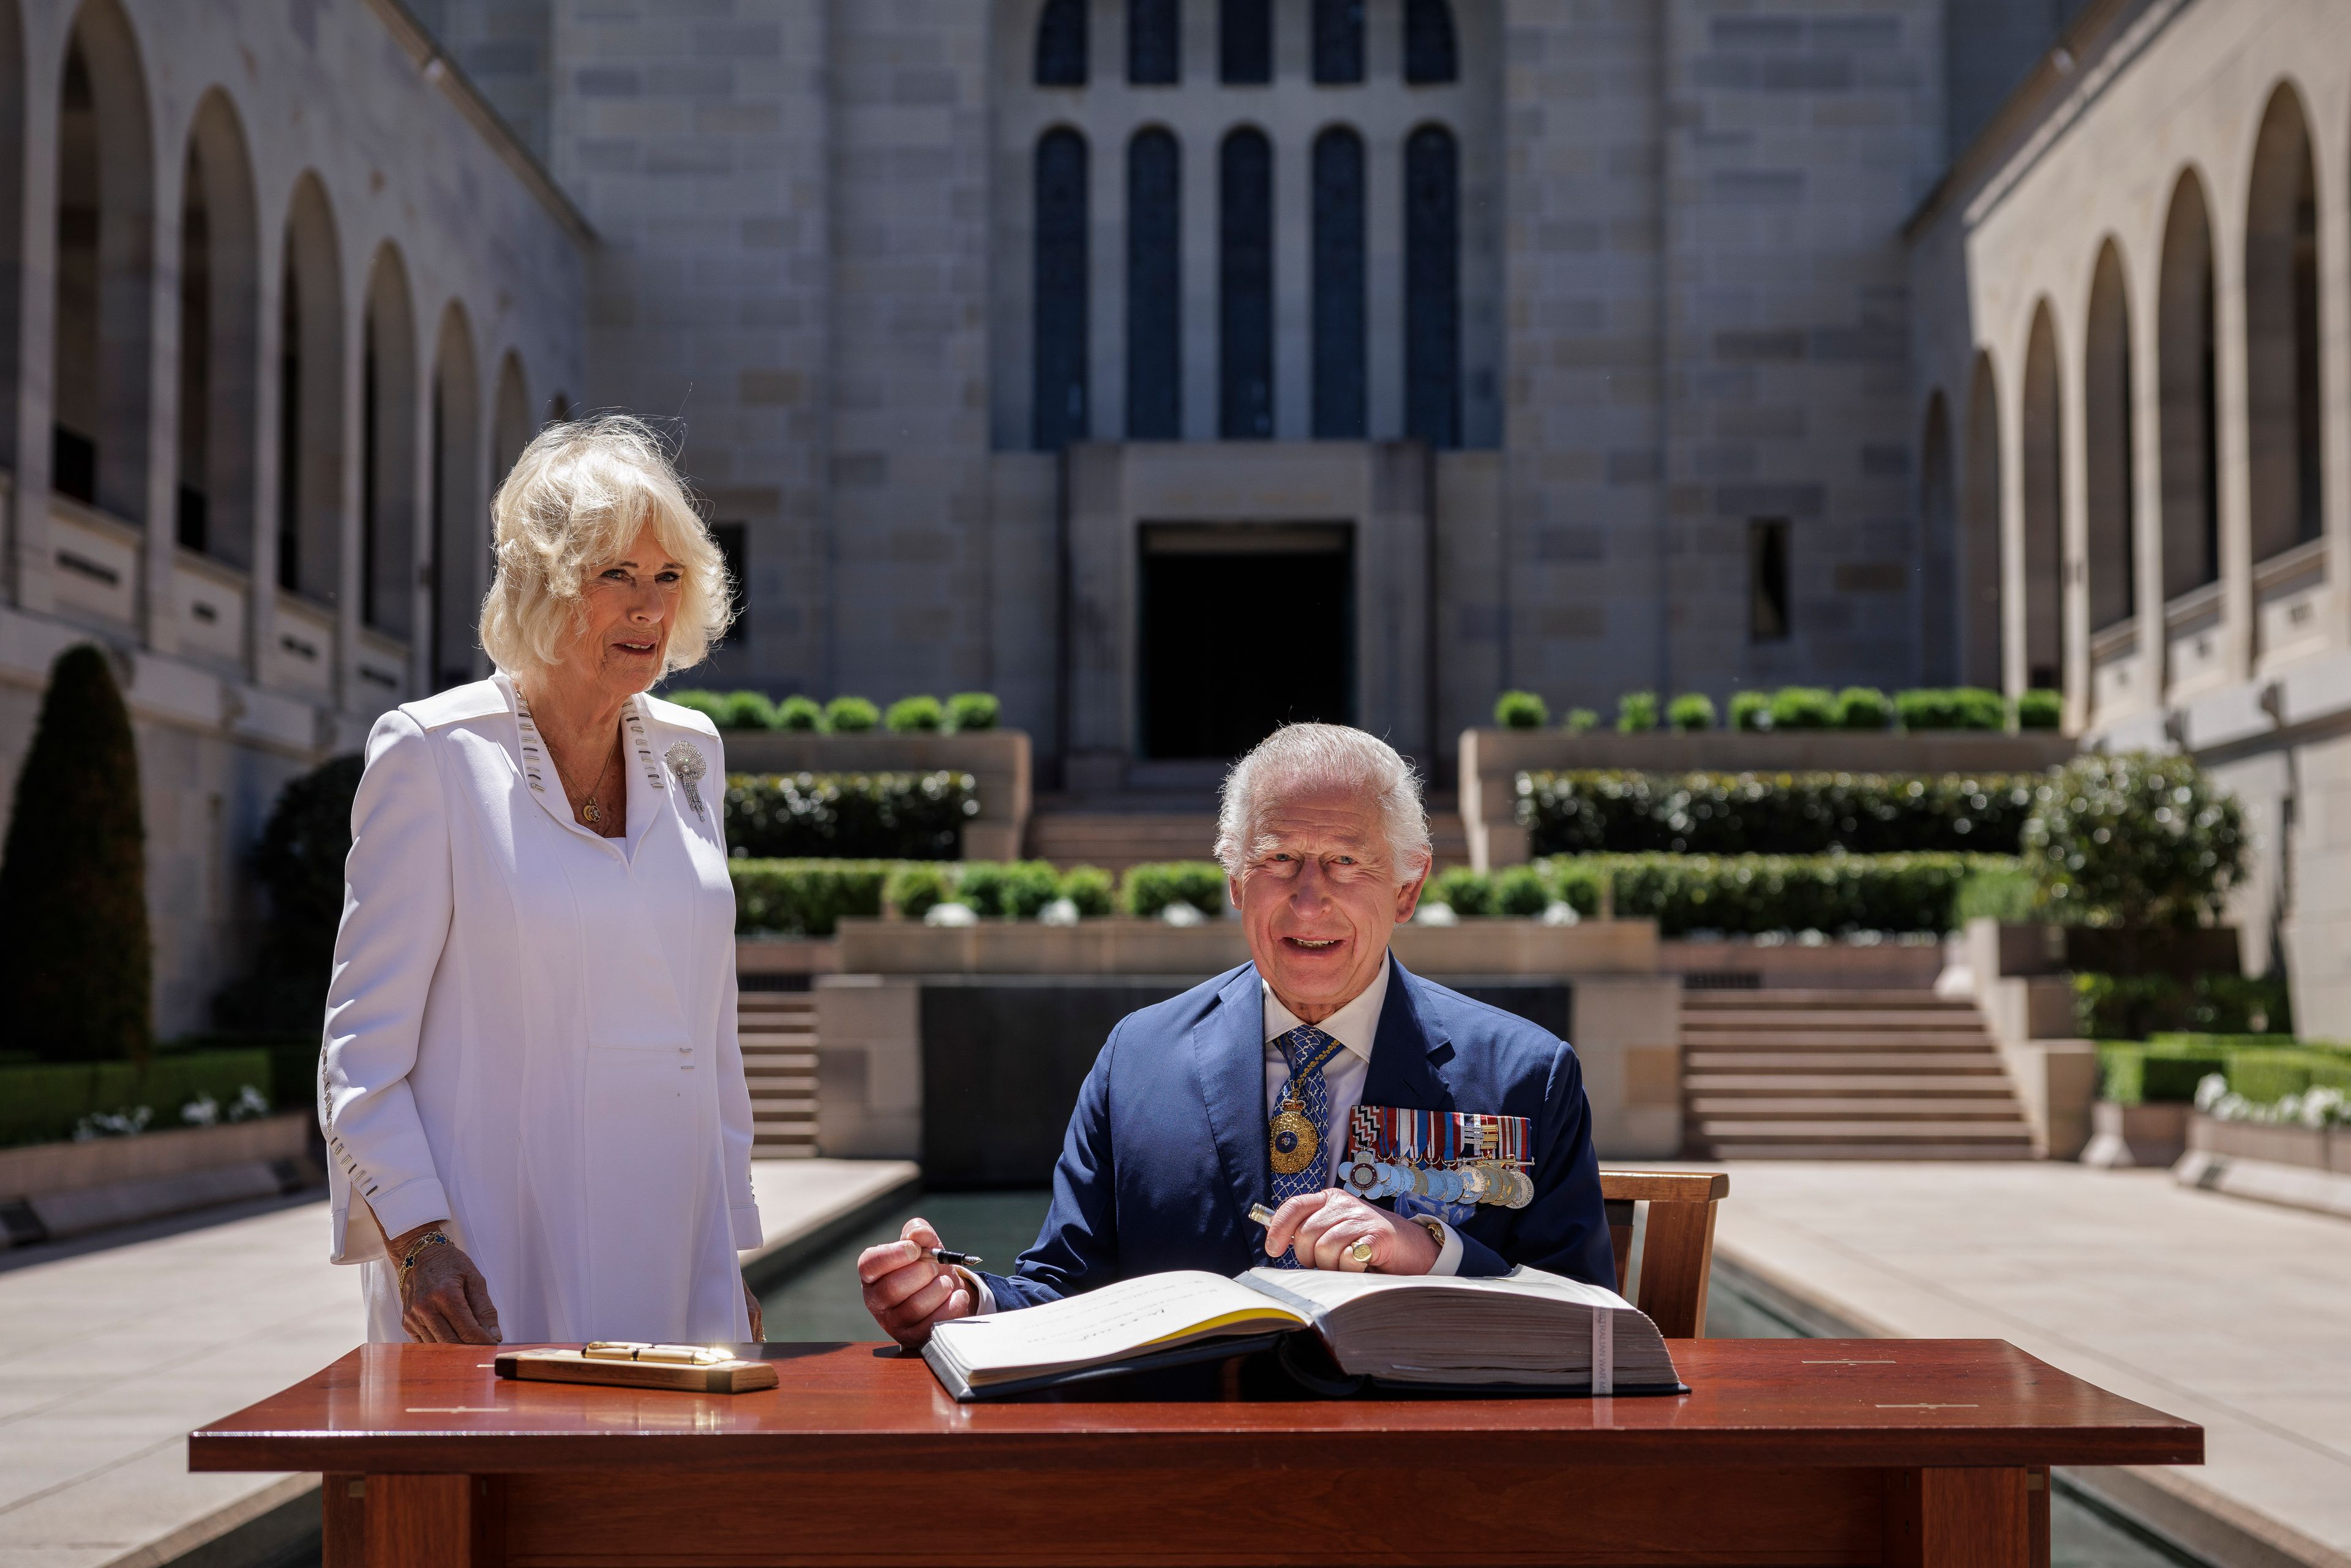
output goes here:
{"type": "Polygon", "coordinates": [[[113,665],[49,665],[0,851],[7,1037],[52,1063],[143,1063],[155,990],[139,750],[113,665]]]}

